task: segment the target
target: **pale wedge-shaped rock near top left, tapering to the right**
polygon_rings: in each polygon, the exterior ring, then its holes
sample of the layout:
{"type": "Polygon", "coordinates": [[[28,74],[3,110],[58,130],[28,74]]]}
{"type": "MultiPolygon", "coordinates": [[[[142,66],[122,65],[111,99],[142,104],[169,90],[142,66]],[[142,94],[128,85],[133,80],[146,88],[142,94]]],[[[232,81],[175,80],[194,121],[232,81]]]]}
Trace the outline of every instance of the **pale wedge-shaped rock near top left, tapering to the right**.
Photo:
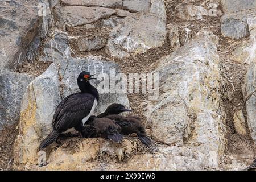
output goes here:
{"type": "Polygon", "coordinates": [[[102,18],[109,18],[117,11],[105,7],[64,6],[56,10],[59,12],[57,20],[66,26],[76,27],[95,22],[102,18]]]}

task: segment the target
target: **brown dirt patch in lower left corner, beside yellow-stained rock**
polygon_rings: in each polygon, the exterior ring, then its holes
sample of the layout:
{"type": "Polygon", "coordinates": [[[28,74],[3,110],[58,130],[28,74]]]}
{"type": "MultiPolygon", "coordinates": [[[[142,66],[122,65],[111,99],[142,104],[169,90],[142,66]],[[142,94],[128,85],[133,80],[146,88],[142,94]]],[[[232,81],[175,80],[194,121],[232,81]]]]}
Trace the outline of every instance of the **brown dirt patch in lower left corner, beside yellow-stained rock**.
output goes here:
{"type": "Polygon", "coordinates": [[[13,169],[13,145],[18,135],[17,125],[15,123],[0,130],[0,171],[13,169]]]}

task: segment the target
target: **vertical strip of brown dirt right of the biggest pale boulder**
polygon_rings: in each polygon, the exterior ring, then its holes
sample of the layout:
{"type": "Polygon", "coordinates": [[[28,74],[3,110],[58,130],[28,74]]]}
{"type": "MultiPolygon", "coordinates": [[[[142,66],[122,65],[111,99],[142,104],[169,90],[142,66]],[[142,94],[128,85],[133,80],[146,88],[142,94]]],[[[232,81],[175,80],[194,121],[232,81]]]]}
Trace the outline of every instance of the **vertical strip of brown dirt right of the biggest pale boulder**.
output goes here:
{"type": "MultiPolygon", "coordinates": [[[[248,38],[233,40],[220,37],[220,46],[218,54],[221,60],[221,74],[223,77],[222,85],[222,107],[226,114],[226,154],[234,156],[237,160],[245,164],[250,164],[255,159],[255,146],[251,139],[249,128],[246,125],[246,136],[238,134],[234,127],[234,113],[242,110],[245,122],[247,123],[247,114],[245,101],[243,100],[242,85],[247,71],[247,64],[236,63],[230,59],[232,51],[238,44],[245,42],[248,38]]],[[[229,158],[225,158],[224,163],[229,163],[229,158]]]]}

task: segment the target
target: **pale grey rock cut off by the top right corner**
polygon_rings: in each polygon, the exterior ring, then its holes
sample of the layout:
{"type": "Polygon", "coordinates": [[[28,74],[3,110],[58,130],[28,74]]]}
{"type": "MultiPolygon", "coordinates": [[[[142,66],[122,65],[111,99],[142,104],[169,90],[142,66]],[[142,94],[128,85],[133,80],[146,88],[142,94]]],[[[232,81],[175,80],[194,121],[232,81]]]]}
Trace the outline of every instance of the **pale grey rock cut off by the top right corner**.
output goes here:
{"type": "Polygon", "coordinates": [[[255,0],[221,0],[224,13],[255,9],[255,0]]]}

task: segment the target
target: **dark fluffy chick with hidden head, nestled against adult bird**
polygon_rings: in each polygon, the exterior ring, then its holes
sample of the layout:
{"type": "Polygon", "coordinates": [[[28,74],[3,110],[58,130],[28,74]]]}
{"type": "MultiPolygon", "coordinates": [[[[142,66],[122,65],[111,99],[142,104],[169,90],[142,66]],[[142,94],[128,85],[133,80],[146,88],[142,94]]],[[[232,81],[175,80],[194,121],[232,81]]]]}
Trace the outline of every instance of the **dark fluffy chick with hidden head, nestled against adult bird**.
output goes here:
{"type": "Polygon", "coordinates": [[[123,135],[120,134],[121,127],[115,122],[108,118],[97,118],[90,117],[88,123],[84,125],[81,131],[82,137],[85,138],[96,138],[101,137],[105,139],[110,139],[113,142],[121,143],[123,140],[123,135]]]}

